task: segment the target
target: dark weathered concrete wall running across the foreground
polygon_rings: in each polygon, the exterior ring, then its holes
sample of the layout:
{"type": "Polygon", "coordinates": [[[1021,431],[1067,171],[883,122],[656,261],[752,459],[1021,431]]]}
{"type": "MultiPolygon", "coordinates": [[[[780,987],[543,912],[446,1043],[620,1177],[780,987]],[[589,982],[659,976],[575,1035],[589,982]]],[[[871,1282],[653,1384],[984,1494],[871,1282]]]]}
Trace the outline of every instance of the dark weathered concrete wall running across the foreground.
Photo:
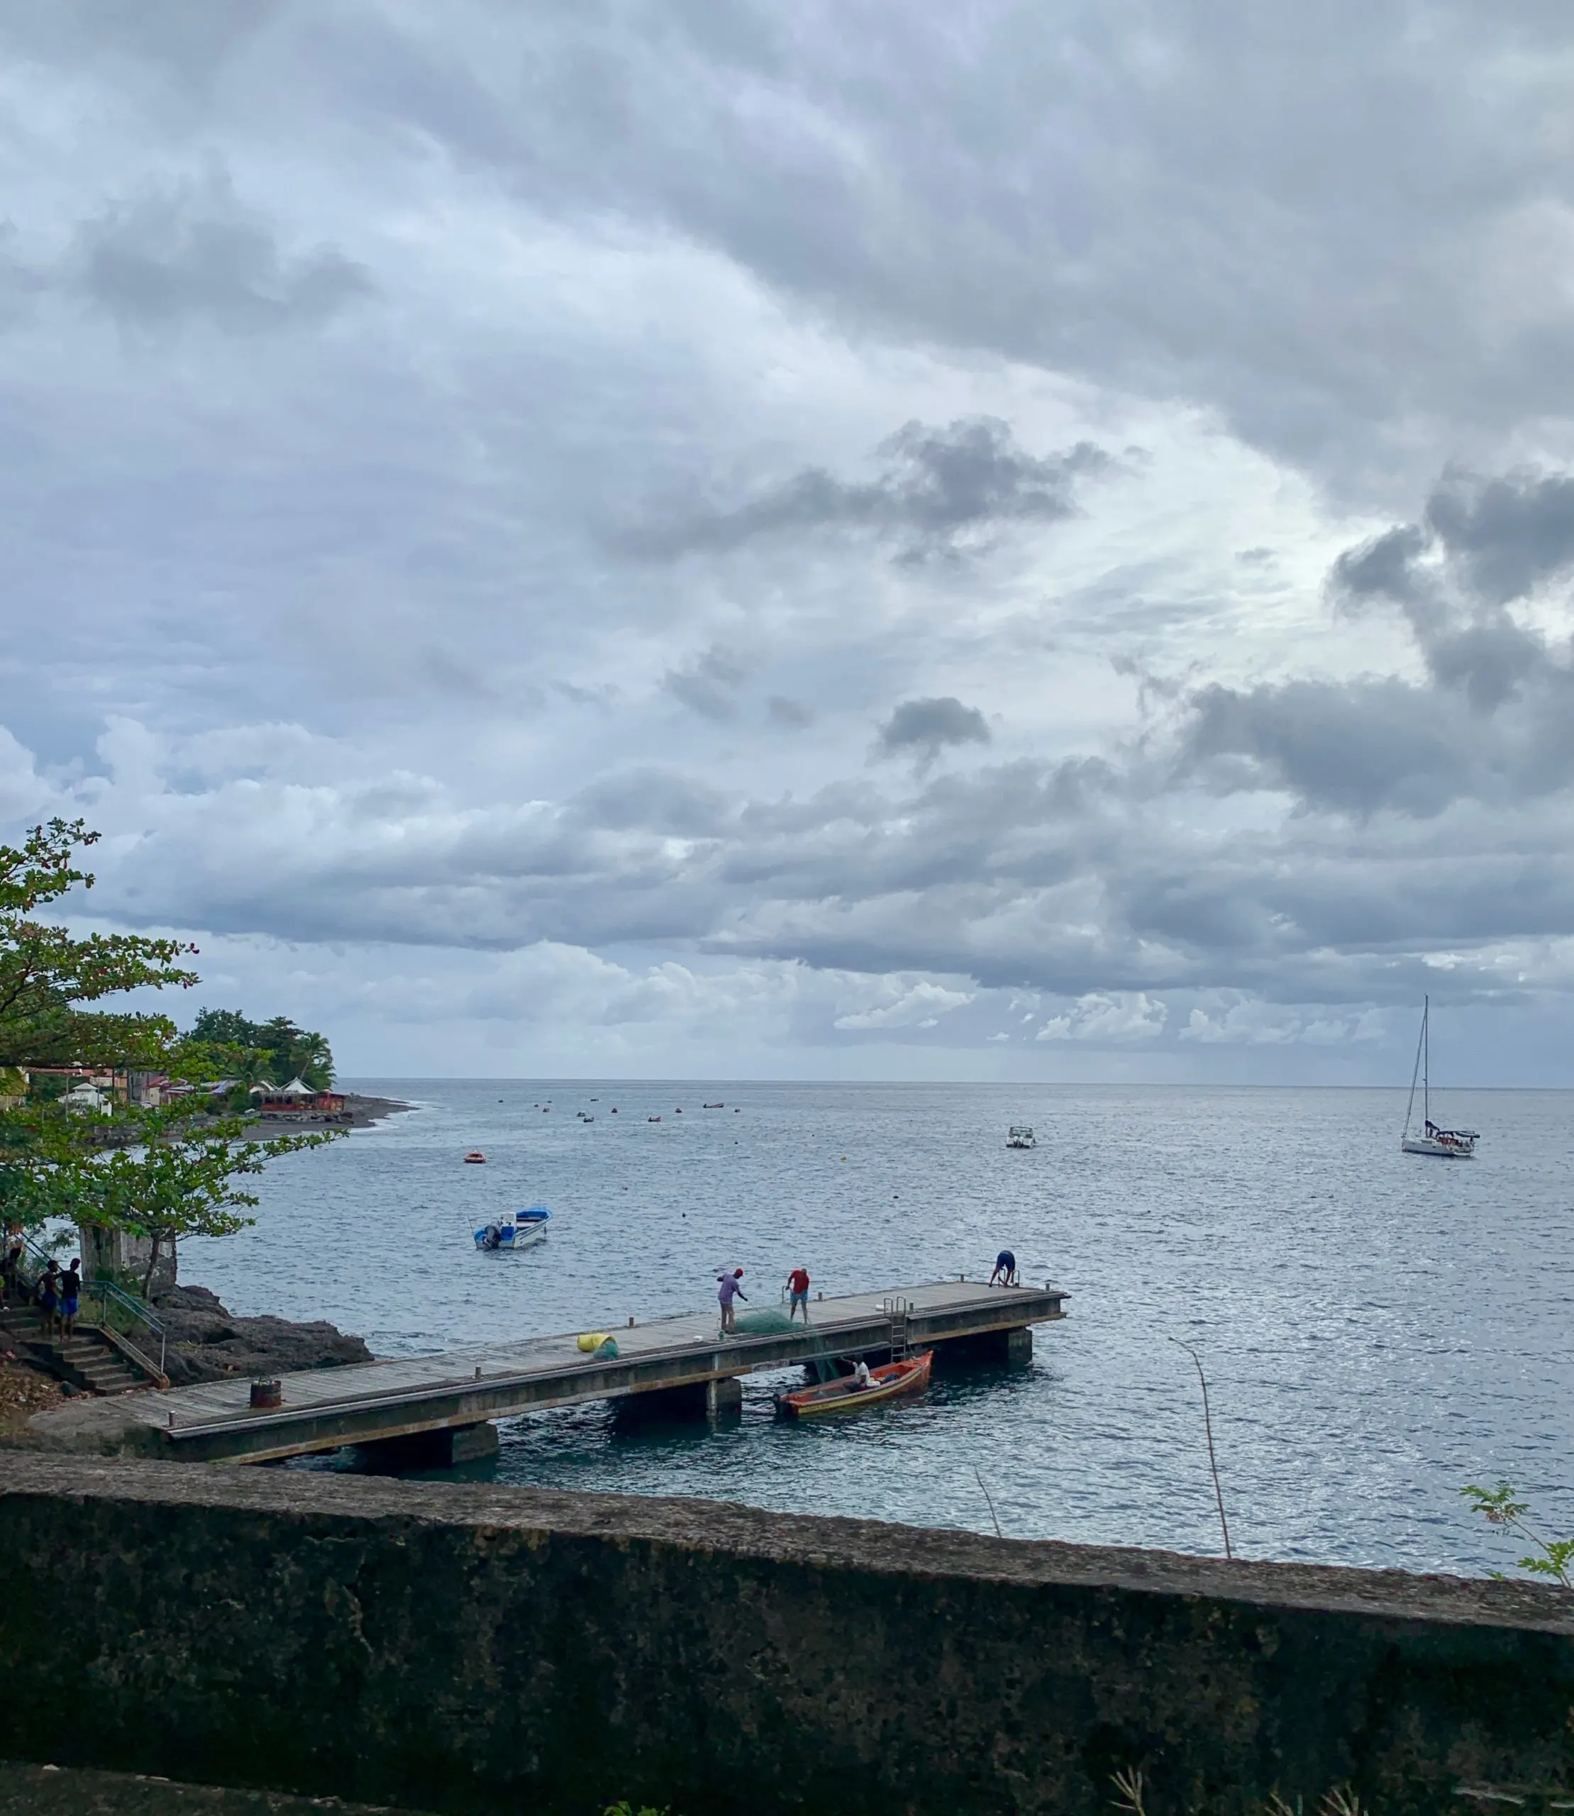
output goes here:
{"type": "MultiPolygon", "coordinates": [[[[438,1811],[1569,1781],[1574,1596],[735,1505],[0,1460],[0,1754],[438,1811]]],[[[1311,1801],[1311,1798],[1309,1798],[1311,1801]]]]}

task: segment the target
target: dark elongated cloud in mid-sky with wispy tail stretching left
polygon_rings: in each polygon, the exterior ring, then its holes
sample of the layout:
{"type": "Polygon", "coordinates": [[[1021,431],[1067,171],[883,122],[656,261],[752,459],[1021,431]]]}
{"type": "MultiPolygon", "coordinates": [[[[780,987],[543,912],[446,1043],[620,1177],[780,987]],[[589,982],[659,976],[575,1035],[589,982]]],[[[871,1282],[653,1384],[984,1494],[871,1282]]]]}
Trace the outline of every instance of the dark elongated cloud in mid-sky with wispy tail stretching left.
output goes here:
{"type": "Polygon", "coordinates": [[[1078,441],[1064,454],[1033,456],[995,418],[931,429],[906,423],[880,443],[875,479],[837,479],[806,467],[746,505],[659,527],[628,530],[623,547],[646,556],[726,550],[792,530],[871,530],[919,561],[988,539],[1009,523],[1057,523],[1077,512],[1073,483],[1109,467],[1109,456],[1078,441]]]}

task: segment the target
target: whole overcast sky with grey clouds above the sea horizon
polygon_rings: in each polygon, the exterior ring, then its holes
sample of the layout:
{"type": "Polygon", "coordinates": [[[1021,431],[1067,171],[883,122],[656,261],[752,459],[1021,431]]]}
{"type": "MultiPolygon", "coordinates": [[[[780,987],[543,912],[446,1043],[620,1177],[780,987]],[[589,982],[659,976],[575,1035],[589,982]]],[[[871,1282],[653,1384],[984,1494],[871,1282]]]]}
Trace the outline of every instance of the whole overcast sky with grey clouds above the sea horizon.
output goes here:
{"type": "Polygon", "coordinates": [[[4,0],[4,835],[356,1073],[1570,1084],[1570,76],[4,0]]]}

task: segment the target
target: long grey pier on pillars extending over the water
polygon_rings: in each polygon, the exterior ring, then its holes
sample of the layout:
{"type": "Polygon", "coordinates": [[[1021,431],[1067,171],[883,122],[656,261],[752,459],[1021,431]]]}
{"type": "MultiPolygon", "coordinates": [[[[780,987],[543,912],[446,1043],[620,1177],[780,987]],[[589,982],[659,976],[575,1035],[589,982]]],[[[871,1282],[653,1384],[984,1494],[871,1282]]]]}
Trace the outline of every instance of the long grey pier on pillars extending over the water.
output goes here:
{"type": "MultiPolygon", "coordinates": [[[[855,1357],[891,1346],[893,1318],[910,1347],[988,1338],[1064,1317],[1058,1288],[988,1288],[948,1280],[815,1300],[812,1322],[764,1335],[717,1335],[715,1308],[612,1329],[617,1357],[585,1355],[577,1333],[454,1349],[432,1357],[361,1362],[285,1375],[283,1404],[252,1409],[245,1378],[127,1395],[38,1415],[34,1424],[67,1442],[102,1447],[114,1429],[145,1453],[154,1433],[165,1455],[191,1462],[269,1462],[310,1451],[487,1427],[550,1406],[681,1398],[755,1369],[855,1357]],[[56,1429],[58,1427],[58,1429],[56,1429]],[[142,1427],[140,1431],[136,1427],[142,1427]]],[[[606,1326],[590,1326],[606,1327],[606,1326]]],[[[1031,1353],[1031,1337],[1018,1342],[1031,1353]]],[[[737,1389],[733,1389],[735,1393],[737,1389]]],[[[657,1404],[657,1402],[648,1402],[657,1404]]],[[[454,1453],[457,1460],[457,1451],[454,1453]]]]}

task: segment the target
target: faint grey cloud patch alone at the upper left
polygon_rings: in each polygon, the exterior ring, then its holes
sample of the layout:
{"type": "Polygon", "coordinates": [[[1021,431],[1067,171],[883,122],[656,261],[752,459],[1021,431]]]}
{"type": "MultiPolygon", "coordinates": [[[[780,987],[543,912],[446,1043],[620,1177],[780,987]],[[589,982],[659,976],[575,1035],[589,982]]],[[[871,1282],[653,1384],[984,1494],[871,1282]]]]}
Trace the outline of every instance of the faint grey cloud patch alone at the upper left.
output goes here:
{"type": "Polygon", "coordinates": [[[332,247],[283,252],[220,171],[111,203],[78,229],[65,269],[84,298],[138,329],[200,320],[276,332],[374,294],[370,272],[332,247]]]}

